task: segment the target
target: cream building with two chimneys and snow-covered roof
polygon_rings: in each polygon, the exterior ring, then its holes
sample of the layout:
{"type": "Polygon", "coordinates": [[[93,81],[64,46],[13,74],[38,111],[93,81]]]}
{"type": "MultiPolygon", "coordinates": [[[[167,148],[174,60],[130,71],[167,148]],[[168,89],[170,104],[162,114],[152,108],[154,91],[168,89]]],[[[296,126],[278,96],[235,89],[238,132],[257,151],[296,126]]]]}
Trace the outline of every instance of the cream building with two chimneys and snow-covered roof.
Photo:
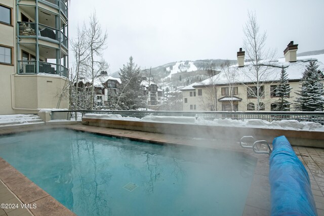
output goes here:
{"type": "MultiPolygon", "coordinates": [[[[245,62],[245,51],[237,52],[237,65],[222,70],[217,75],[195,82],[182,89],[184,111],[274,111],[278,101],[277,85],[282,67],[288,74],[292,88],[290,98],[294,103],[296,91],[301,88],[300,80],[310,61],[315,61],[323,73],[324,54],[297,58],[298,45],[293,41],[284,51],[285,58],[262,60],[259,66],[260,88],[257,91],[256,71],[252,62],[245,62]],[[319,60],[317,58],[320,58],[319,60]],[[257,98],[257,92],[259,97],[257,98]],[[259,103],[259,104],[258,104],[259,103]],[[257,104],[259,106],[257,106],[257,104]]],[[[323,83],[324,84],[324,83],[323,83]]],[[[292,110],[287,107],[287,110],[292,110]]]]}

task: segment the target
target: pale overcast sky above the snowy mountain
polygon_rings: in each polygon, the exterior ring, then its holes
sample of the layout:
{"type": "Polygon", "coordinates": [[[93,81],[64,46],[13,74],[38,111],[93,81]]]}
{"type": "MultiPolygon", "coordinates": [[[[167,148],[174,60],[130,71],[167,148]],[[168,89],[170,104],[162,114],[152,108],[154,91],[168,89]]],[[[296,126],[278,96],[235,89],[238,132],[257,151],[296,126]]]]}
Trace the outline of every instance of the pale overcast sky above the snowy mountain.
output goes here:
{"type": "MultiPolygon", "coordinates": [[[[255,11],[277,56],[291,40],[298,53],[324,49],[323,0],[78,0],[70,1],[69,37],[96,10],[107,30],[104,58],[115,72],[133,56],[141,68],[173,61],[236,59],[248,10],[255,11]]],[[[70,66],[72,66],[70,53],[70,66]]]]}

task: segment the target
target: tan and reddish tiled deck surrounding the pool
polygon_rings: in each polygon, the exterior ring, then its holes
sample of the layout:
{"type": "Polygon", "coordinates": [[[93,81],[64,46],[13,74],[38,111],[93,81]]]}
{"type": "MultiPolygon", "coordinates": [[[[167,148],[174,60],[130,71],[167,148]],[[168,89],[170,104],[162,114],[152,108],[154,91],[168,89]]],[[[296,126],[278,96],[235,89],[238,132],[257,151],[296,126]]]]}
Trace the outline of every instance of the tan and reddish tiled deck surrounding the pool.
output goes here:
{"type": "MultiPolygon", "coordinates": [[[[216,144],[213,139],[193,139],[185,136],[166,135],[126,129],[88,126],[84,124],[72,125],[45,125],[24,126],[21,128],[2,128],[0,135],[13,134],[35,129],[70,128],[78,131],[91,132],[112,137],[127,138],[135,141],[144,141],[160,144],[178,144],[195,147],[215,148],[230,151],[244,152],[256,157],[257,165],[246,206],[242,215],[270,215],[270,186],[268,182],[269,156],[252,152],[251,149],[242,149],[238,143],[216,144]]],[[[218,141],[219,143],[219,141],[218,141]]],[[[293,143],[292,143],[293,145],[293,143]]],[[[306,167],[311,181],[311,189],[316,202],[318,215],[324,216],[324,149],[293,146],[297,156],[306,167]]],[[[3,215],[75,215],[47,194],[33,182],[28,180],[19,171],[0,158],[0,203],[36,204],[36,208],[2,209],[3,215]]]]}

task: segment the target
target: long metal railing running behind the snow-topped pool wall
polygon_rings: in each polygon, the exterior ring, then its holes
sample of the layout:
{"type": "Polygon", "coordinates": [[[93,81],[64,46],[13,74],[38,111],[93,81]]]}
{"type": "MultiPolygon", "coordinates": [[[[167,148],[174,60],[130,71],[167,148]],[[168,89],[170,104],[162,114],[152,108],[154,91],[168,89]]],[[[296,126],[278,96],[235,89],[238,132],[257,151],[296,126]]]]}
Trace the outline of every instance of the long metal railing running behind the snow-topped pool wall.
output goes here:
{"type": "Polygon", "coordinates": [[[137,117],[143,118],[144,116],[191,116],[203,117],[204,119],[213,120],[219,118],[231,118],[236,120],[244,119],[262,119],[266,121],[273,120],[298,120],[298,121],[311,121],[324,124],[324,112],[192,112],[192,111],[120,111],[120,110],[68,110],[68,111],[52,111],[51,119],[65,119],[65,120],[82,120],[86,113],[95,114],[120,114],[123,117],[137,117]]]}

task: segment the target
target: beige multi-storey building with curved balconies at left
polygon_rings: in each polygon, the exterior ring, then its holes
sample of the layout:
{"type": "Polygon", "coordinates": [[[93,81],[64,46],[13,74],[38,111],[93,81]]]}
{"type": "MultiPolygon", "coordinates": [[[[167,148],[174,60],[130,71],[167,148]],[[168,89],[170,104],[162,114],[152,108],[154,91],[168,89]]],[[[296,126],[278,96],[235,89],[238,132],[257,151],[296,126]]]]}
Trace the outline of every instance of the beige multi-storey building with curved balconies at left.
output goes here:
{"type": "Polygon", "coordinates": [[[0,0],[0,114],[68,108],[67,0],[0,0]]]}

